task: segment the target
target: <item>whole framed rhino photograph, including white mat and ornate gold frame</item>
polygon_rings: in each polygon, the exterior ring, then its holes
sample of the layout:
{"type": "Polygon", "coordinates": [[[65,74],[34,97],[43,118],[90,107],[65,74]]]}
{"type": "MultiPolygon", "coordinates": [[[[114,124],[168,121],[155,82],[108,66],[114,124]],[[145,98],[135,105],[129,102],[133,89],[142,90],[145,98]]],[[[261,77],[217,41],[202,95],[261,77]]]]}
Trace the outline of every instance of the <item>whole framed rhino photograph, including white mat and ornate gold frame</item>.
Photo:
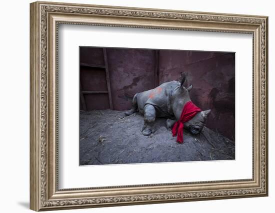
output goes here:
{"type": "Polygon", "coordinates": [[[30,4],[30,209],[268,195],[266,16],[30,4]]]}

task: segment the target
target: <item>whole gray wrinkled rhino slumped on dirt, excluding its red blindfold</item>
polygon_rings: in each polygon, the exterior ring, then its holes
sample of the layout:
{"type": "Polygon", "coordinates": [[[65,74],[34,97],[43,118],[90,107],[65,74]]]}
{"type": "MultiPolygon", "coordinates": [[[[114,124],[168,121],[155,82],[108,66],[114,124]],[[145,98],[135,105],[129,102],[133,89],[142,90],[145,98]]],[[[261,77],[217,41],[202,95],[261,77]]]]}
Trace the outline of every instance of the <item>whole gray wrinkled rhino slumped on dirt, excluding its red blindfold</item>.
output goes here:
{"type": "MultiPolygon", "coordinates": [[[[167,118],[166,127],[171,128],[179,120],[185,103],[190,101],[189,91],[192,85],[185,88],[184,82],[185,77],[181,82],[170,81],[154,89],[136,93],[132,100],[132,108],[125,112],[125,115],[131,115],[137,110],[144,115],[144,125],[141,131],[145,136],[154,132],[153,124],[156,117],[167,118]]],[[[209,112],[210,110],[206,110],[197,113],[191,120],[184,123],[184,128],[194,135],[198,134],[209,112]]]]}

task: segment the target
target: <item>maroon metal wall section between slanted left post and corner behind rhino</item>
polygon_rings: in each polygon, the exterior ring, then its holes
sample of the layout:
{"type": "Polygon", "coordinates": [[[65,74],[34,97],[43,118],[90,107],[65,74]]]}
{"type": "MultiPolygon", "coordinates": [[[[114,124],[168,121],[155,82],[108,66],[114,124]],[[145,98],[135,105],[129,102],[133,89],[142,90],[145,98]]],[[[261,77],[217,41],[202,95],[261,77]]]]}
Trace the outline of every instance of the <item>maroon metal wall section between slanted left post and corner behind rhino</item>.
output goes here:
{"type": "Polygon", "coordinates": [[[107,58],[114,110],[131,108],[135,93],[155,87],[153,50],[107,49],[107,58]]]}

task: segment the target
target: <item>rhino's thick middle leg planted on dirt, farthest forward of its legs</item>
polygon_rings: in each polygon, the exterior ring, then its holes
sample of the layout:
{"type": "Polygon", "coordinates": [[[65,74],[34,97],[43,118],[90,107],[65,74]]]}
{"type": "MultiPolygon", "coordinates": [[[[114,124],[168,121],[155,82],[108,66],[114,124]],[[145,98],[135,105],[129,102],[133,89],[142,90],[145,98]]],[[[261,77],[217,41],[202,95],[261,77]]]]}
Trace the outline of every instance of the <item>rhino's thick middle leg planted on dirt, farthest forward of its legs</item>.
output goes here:
{"type": "Polygon", "coordinates": [[[153,132],[154,119],[155,108],[150,104],[146,104],[144,106],[144,125],[141,130],[143,135],[148,136],[153,132]]]}

